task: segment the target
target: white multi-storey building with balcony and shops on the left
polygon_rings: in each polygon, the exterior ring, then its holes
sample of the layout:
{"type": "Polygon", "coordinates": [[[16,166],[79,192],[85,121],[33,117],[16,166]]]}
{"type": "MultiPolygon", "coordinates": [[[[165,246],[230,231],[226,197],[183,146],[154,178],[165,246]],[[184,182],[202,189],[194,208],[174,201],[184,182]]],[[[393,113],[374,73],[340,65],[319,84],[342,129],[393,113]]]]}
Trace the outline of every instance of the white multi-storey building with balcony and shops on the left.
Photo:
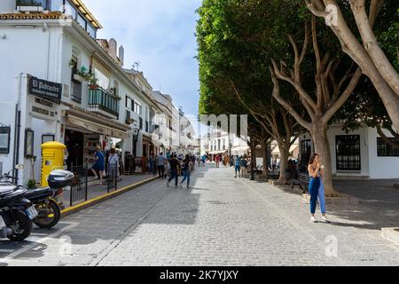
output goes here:
{"type": "Polygon", "coordinates": [[[97,39],[101,25],[82,1],[19,4],[0,1],[3,171],[21,163],[21,182],[40,180],[41,145],[51,140],[66,144],[68,168],[90,167],[96,146],[116,142],[123,155],[156,152],[156,140],[146,139],[161,114],[151,86],[142,88],[123,69],[124,50],[114,39],[97,39]]]}

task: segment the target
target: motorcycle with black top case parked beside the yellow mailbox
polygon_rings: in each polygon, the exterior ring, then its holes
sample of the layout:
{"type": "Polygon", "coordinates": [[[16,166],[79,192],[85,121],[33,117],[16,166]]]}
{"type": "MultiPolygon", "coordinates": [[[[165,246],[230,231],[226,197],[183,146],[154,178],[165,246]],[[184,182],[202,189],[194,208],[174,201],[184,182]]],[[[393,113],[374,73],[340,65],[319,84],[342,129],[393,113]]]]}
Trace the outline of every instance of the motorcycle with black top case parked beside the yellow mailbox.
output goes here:
{"type": "MultiPolygon", "coordinates": [[[[74,174],[66,170],[54,170],[48,177],[49,187],[28,189],[24,193],[24,198],[35,204],[35,209],[38,216],[35,217],[35,225],[43,228],[50,229],[59,223],[61,218],[61,209],[59,203],[55,201],[58,196],[64,192],[64,187],[69,185],[74,178],[74,174]]],[[[5,184],[12,184],[16,178],[8,174],[0,180],[0,188],[5,184]]]]}

